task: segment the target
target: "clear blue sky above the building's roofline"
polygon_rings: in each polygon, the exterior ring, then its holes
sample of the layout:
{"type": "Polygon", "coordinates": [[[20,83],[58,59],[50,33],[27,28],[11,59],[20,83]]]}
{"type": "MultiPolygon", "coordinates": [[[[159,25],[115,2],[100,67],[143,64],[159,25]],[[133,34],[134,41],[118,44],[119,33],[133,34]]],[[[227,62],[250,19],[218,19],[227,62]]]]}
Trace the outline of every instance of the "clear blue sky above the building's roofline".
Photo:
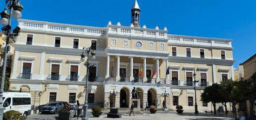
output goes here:
{"type": "MultiPolygon", "coordinates": [[[[130,25],[134,0],[20,0],[22,19],[105,27],[130,25]]],[[[256,53],[256,0],[138,0],[141,25],[169,34],[233,39],[234,67],[256,53]]],[[[1,0],[0,8],[5,7],[1,0]]],[[[13,20],[12,26],[17,25],[13,20]]]]}

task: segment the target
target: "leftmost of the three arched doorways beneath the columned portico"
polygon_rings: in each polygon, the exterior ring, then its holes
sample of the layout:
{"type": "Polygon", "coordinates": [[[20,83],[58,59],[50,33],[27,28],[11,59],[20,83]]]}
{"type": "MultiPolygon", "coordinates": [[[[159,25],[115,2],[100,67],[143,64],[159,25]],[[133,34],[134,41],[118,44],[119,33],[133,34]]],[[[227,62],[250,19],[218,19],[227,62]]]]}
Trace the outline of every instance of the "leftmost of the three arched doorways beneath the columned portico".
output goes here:
{"type": "Polygon", "coordinates": [[[129,90],[128,88],[122,88],[120,90],[120,107],[129,106],[129,90]]]}

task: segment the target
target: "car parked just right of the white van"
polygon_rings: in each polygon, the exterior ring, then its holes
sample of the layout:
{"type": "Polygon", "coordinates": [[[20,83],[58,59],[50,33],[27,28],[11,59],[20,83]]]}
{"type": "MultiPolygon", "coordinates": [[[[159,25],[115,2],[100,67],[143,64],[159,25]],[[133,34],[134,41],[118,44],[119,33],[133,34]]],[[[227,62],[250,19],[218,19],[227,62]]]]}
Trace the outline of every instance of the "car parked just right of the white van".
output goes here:
{"type": "Polygon", "coordinates": [[[49,102],[42,108],[42,114],[44,113],[54,113],[57,114],[64,105],[62,102],[49,102]]]}

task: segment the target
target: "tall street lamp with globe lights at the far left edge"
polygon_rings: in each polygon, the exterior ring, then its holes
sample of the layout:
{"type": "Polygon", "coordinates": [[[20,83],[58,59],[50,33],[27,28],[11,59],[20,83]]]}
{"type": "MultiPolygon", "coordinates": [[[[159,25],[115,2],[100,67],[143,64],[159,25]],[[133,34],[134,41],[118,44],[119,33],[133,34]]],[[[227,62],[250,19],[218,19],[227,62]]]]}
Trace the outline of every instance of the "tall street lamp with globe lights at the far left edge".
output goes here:
{"type": "Polygon", "coordinates": [[[6,46],[5,46],[5,56],[4,56],[4,63],[2,67],[2,78],[1,78],[1,85],[0,85],[0,120],[3,119],[3,112],[5,107],[3,107],[3,92],[4,92],[4,82],[5,82],[5,74],[6,74],[6,64],[7,64],[7,54],[10,51],[9,40],[10,38],[16,37],[19,35],[20,27],[15,27],[13,33],[11,33],[11,21],[12,15],[14,19],[21,18],[21,11],[23,6],[20,5],[20,0],[5,0],[7,7],[4,9],[1,15],[0,23],[4,26],[1,30],[7,36],[6,38],[6,46]],[[9,13],[8,13],[9,10],[9,13]]]}

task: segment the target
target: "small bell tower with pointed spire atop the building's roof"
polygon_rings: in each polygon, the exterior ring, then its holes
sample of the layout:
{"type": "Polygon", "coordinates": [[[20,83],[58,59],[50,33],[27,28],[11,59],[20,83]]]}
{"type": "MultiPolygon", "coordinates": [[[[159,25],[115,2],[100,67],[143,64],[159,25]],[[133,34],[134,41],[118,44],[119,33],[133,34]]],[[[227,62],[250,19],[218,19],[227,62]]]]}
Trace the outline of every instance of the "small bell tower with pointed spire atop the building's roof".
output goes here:
{"type": "Polygon", "coordinates": [[[140,27],[140,12],[141,12],[141,9],[140,9],[140,6],[137,2],[137,0],[135,0],[134,2],[134,5],[133,5],[133,8],[131,9],[131,17],[132,17],[132,21],[131,23],[135,26],[135,27],[140,27]]]}

